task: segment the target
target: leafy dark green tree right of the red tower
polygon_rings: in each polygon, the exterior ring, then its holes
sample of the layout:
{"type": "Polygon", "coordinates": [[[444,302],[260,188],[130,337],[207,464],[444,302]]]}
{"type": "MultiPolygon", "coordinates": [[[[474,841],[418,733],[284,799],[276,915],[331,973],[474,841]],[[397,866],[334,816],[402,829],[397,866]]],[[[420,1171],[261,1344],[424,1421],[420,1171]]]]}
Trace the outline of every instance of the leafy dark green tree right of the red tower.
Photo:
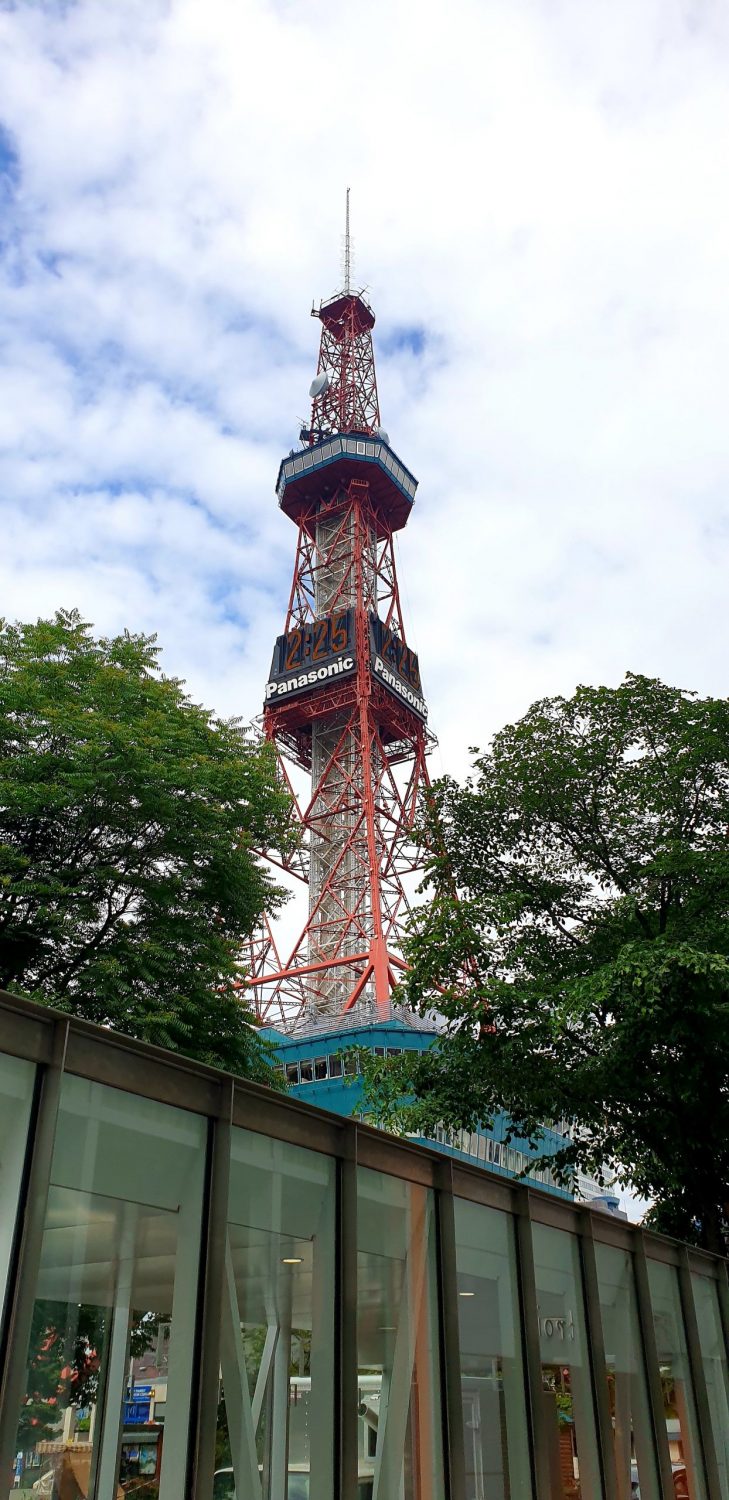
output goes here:
{"type": "Polygon", "coordinates": [[[714,1250],[729,1222],[729,704],[645,676],[536,704],[426,813],[432,900],[405,998],[426,1054],[370,1068],[384,1124],[514,1132],[654,1200],[714,1250]],[[404,1098],[406,1102],[402,1102],[404,1098]]]}

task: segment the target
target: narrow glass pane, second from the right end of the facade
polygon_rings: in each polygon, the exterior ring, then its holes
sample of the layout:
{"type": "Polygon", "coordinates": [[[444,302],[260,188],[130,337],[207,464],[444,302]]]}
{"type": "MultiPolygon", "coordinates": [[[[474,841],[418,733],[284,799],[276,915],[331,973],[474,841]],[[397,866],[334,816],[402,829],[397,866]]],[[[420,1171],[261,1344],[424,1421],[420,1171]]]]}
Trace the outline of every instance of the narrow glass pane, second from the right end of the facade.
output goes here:
{"type": "Polygon", "coordinates": [[[648,1262],[666,1431],[676,1500],[705,1500],[699,1428],[675,1266],[648,1262]]]}

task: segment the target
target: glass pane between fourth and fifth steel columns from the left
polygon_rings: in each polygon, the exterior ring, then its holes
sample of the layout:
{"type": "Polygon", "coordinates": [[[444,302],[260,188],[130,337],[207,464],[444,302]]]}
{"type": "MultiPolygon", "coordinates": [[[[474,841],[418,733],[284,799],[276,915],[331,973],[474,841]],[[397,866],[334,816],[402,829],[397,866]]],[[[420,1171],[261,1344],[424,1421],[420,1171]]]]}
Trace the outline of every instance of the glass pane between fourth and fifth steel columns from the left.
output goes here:
{"type": "Polygon", "coordinates": [[[531,1494],[513,1226],[454,1200],[466,1500],[531,1494]]]}

